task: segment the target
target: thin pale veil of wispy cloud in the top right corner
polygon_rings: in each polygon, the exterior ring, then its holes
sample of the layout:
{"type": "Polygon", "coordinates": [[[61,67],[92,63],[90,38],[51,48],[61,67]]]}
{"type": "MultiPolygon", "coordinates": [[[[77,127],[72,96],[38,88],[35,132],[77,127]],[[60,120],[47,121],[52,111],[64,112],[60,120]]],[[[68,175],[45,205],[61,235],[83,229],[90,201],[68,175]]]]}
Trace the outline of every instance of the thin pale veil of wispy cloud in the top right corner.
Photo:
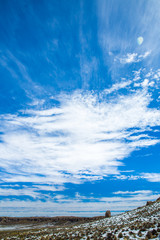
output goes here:
{"type": "Polygon", "coordinates": [[[123,56],[124,53],[128,53],[126,61],[129,63],[138,60],[138,55],[145,57],[144,52],[151,50],[154,54],[148,60],[155,61],[155,55],[160,51],[159,2],[155,1],[152,4],[150,1],[142,0],[135,4],[131,1],[127,11],[126,4],[127,1],[123,3],[117,1],[116,5],[112,1],[97,1],[98,40],[103,54],[111,52],[116,56],[115,53],[118,52],[123,56]],[[143,36],[142,46],[137,43],[140,35],[143,36]]]}

